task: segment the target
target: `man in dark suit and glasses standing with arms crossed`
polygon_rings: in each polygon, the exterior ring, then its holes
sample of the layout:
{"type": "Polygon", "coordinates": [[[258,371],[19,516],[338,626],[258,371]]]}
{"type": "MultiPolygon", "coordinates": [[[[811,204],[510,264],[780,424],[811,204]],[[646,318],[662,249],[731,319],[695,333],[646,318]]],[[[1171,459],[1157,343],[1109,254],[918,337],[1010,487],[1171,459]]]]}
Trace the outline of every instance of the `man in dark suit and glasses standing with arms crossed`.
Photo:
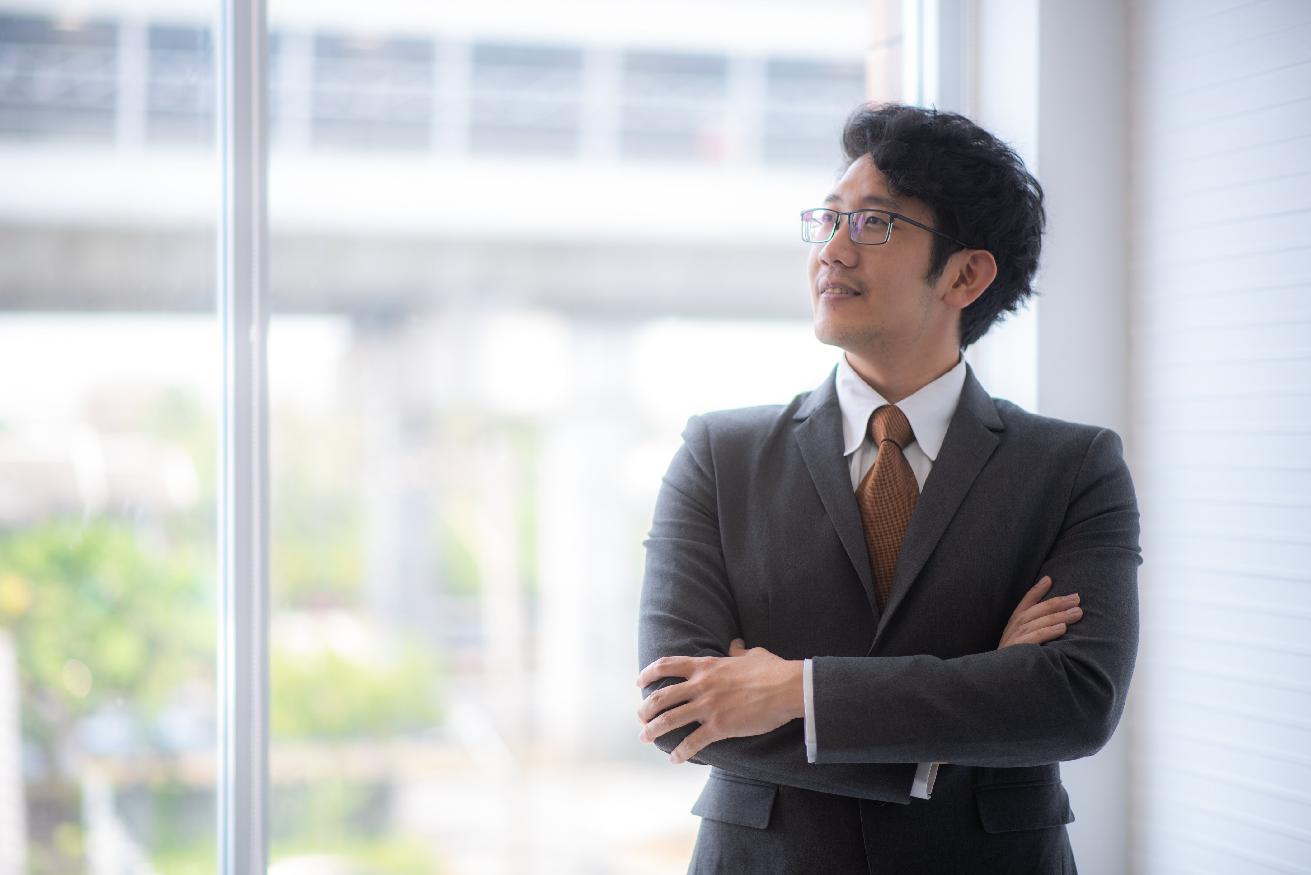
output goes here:
{"type": "Polygon", "coordinates": [[[692,872],[1074,872],[1058,762],[1124,710],[1133,485],[1113,432],[990,398],[961,356],[1032,293],[1042,193],[954,114],[867,106],[843,148],[802,227],[846,355],[784,407],[690,420],[641,739],[714,766],[692,872]]]}

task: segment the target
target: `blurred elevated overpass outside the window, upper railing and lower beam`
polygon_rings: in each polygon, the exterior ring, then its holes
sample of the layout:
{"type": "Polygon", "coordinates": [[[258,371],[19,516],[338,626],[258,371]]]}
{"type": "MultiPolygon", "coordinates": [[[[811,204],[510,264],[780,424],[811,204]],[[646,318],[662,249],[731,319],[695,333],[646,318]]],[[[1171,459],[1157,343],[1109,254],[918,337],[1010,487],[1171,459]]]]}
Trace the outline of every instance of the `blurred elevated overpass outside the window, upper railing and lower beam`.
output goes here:
{"type": "MultiPolygon", "coordinates": [[[[401,5],[273,9],[279,310],[808,312],[775,204],[836,169],[864,33],[823,33],[808,4],[701,8],[732,24],[716,41],[653,25],[682,8],[401,5]]],[[[0,9],[0,307],[208,308],[205,16],[0,9]]]]}

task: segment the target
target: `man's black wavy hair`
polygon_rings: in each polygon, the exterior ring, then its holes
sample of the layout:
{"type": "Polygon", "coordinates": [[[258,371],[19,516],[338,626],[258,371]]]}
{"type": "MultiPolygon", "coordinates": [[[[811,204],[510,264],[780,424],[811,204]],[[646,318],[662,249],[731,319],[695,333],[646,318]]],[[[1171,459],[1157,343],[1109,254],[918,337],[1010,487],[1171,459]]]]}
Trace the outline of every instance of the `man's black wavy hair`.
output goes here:
{"type": "MultiPolygon", "coordinates": [[[[1033,293],[1046,212],[1042,186],[1002,140],[956,113],[867,103],[842,130],[847,166],[868,155],[893,194],[918,198],[944,234],[986,249],[996,279],[961,312],[961,348],[1015,313],[1033,293]]],[[[960,244],[933,237],[928,282],[960,244]]]]}

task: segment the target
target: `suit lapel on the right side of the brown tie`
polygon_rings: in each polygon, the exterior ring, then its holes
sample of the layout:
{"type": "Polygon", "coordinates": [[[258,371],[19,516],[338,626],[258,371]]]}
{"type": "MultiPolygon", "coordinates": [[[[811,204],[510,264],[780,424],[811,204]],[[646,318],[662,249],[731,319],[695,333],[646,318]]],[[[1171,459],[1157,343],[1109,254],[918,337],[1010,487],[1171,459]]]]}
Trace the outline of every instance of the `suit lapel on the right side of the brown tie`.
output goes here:
{"type": "Polygon", "coordinates": [[[974,479],[1000,443],[995,432],[1003,430],[996,403],[974,379],[974,371],[966,365],[965,385],[961,388],[956,414],[947,428],[947,438],[937,452],[933,470],[924,481],[924,491],[915,504],[906,537],[902,540],[897,571],[888,592],[888,605],[878,620],[876,641],[928,562],[974,479]]]}

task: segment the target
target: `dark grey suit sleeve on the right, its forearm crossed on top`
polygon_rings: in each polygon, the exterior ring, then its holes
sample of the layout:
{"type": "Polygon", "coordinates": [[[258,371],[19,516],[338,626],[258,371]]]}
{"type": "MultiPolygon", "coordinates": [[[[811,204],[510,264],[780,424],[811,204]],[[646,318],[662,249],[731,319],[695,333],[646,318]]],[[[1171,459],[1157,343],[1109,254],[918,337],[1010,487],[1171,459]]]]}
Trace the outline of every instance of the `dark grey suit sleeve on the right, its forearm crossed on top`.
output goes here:
{"type": "Polygon", "coordinates": [[[1100,431],[1042,565],[1083,618],[1050,643],[937,659],[818,658],[819,762],[1030,766],[1096,753],[1138,651],[1138,506],[1120,438],[1100,431]]]}

